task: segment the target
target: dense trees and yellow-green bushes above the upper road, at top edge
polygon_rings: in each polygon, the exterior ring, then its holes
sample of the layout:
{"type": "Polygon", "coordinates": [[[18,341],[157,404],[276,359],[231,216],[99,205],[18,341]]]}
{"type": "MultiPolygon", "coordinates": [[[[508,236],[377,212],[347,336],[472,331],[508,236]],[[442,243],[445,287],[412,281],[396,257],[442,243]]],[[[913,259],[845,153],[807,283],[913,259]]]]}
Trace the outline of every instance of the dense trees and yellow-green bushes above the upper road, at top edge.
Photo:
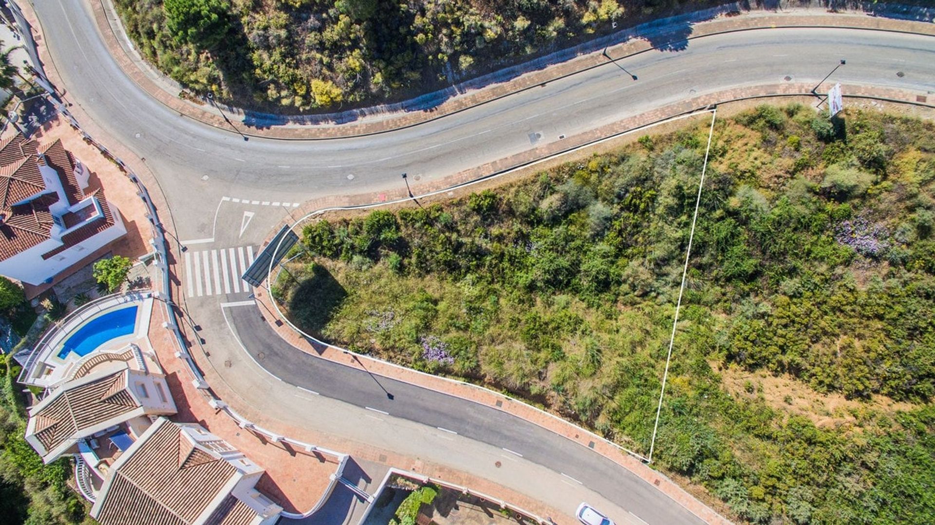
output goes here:
{"type": "Polygon", "coordinates": [[[116,0],[192,91],[283,112],[399,100],[710,0],[116,0]]]}

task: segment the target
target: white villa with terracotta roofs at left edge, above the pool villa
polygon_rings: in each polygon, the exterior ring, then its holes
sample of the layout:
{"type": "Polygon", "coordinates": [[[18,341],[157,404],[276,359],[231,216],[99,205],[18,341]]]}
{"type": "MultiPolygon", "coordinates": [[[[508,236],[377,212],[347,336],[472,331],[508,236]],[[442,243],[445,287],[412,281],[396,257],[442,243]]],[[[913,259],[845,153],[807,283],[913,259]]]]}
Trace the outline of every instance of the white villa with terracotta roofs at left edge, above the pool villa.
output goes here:
{"type": "Polygon", "coordinates": [[[0,141],[0,275],[50,283],[126,233],[103,190],[84,193],[90,177],[61,140],[0,141]]]}

